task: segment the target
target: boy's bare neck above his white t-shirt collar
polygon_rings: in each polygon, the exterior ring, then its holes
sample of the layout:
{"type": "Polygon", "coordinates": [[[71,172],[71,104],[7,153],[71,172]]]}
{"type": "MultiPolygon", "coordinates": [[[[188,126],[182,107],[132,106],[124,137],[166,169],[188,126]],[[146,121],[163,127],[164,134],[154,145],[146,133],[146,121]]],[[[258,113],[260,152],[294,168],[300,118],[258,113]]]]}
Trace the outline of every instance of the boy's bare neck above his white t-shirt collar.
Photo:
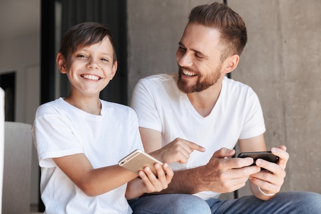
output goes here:
{"type": "Polygon", "coordinates": [[[67,96],[65,101],[70,105],[81,109],[87,113],[94,115],[101,115],[102,103],[99,99],[96,98],[82,98],[82,99],[74,99],[72,96],[67,96]]]}

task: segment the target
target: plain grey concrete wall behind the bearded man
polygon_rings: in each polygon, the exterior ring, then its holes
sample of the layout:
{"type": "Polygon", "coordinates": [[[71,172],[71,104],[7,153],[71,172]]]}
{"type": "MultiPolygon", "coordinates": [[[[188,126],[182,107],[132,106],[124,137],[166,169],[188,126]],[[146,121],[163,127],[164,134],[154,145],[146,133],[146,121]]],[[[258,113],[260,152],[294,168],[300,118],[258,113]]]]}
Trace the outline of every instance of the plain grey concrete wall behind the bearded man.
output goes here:
{"type": "MultiPolygon", "coordinates": [[[[189,11],[212,2],[128,1],[129,98],[142,77],[177,70],[177,42],[189,11]]],[[[228,5],[244,18],[249,37],[232,78],[258,94],[268,149],[283,144],[290,153],[282,191],[321,193],[321,1],[228,0],[228,5]]],[[[240,196],[249,193],[239,190],[240,196]]]]}

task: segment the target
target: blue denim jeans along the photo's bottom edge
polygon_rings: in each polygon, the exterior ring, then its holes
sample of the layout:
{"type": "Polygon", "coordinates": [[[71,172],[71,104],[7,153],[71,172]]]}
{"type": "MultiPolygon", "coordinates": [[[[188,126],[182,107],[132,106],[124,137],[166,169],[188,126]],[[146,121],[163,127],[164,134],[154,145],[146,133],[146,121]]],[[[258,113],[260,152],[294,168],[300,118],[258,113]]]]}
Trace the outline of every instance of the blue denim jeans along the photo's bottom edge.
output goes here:
{"type": "Polygon", "coordinates": [[[137,214],[321,214],[321,194],[293,191],[279,192],[269,201],[245,196],[233,200],[209,199],[206,202],[190,194],[160,194],[130,200],[129,205],[137,214]]]}

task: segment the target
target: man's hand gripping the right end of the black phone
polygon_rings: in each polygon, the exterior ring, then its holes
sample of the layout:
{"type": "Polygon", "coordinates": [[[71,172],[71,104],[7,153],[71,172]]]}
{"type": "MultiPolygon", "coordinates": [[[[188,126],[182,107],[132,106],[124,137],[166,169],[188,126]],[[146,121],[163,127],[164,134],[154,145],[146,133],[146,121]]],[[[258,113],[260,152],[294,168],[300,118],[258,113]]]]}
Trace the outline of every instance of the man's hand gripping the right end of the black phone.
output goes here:
{"type": "MultiPolygon", "coordinates": [[[[250,180],[267,194],[279,192],[284,182],[286,176],[285,168],[289,160],[289,153],[286,150],[286,146],[278,146],[271,149],[271,152],[279,157],[277,164],[262,159],[256,160],[256,165],[266,170],[252,174],[250,180]]],[[[259,196],[257,197],[259,198],[259,196]]]]}

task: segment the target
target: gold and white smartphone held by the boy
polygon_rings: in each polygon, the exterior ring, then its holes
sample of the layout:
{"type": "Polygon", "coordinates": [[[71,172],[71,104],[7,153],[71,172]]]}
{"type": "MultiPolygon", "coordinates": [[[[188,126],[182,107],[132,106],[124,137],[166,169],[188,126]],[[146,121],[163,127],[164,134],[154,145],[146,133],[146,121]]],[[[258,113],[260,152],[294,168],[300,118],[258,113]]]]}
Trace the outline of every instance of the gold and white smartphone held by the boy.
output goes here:
{"type": "Polygon", "coordinates": [[[149,155],[148,153],[136,149],[135,151],[128,154],[125,158],[118,162],[119,166],[122,166],[138,175],[138,171],[144,170],[146,166],[149,166],[152,172],[157,175],[154,164],[159,163],[163,166],[163,163],[149,155]]]}

